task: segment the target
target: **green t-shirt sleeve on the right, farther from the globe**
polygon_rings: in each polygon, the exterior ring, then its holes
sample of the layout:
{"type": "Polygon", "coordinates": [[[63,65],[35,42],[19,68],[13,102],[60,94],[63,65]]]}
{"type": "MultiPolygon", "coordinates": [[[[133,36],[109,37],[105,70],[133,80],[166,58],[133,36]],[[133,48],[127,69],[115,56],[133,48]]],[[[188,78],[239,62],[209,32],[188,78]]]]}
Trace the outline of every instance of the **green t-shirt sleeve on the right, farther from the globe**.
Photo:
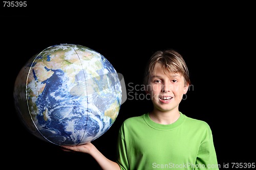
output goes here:
{"type": "Polygon", "coordinates": [[[195,169],[219,169],[212,133],[206,129],[205,139],[202,141],[196,160],[195,169]]]}

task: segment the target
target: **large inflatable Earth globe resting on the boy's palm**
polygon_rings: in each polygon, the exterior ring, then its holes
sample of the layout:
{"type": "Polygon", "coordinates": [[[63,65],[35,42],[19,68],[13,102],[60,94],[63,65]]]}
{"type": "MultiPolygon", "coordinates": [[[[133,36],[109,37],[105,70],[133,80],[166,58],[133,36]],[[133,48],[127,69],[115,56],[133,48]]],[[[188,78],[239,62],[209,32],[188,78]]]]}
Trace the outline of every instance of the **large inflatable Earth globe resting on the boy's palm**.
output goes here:
{"type": "Polygon", "coordinates": [[[13,90],[17,114],[41,140],[79,145],[113,125],[122,90],[116,70],[86,46],[59,44],[30,58],[13,90]]]}

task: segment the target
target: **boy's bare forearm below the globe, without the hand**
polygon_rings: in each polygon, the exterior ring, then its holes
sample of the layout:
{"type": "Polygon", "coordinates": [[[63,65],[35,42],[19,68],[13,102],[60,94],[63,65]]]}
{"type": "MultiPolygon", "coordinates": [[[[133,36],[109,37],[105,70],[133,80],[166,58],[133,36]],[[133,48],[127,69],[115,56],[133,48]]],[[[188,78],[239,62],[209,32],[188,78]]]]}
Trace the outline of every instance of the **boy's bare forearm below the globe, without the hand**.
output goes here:
{"type": "Polygon", "coordinates": [[[120,167],[116,162],[106,158],[94,146],[90,151],[90,155],[98,162],[98,164],[103,170],[120,170],[120,167]]]}

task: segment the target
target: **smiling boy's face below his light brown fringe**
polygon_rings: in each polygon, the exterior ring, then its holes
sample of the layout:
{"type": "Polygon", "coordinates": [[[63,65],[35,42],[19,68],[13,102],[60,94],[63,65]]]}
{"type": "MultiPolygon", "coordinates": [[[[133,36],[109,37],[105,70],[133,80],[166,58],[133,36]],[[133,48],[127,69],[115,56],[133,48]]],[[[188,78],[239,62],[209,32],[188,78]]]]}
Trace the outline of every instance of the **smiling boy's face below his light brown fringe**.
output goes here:
{"type": "Polygon", "coordinates": [[[148,81],[147,92],[151,95],[154,108],[160,111],[178,111],[183,94],[187,92],[188,84],[180,74],[163,72],[160,64],[155,66],[152,77],[148,81]]]}

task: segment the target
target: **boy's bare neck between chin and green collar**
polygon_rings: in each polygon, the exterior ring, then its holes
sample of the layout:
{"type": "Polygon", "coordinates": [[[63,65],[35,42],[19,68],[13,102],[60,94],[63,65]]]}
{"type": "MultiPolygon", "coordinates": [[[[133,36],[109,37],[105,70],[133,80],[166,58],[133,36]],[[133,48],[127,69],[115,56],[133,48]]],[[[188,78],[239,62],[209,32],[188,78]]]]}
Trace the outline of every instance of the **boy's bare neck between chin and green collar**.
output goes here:
{"type": "Polygon", "coordinates": [[[162,125],[168,125],[176,122],[180,117],[179,111],[169,111],[169,112],[163,112],[163,111],[156,111],[153,110],[149,114],[150,118],[158,124],[162,125]]]}

